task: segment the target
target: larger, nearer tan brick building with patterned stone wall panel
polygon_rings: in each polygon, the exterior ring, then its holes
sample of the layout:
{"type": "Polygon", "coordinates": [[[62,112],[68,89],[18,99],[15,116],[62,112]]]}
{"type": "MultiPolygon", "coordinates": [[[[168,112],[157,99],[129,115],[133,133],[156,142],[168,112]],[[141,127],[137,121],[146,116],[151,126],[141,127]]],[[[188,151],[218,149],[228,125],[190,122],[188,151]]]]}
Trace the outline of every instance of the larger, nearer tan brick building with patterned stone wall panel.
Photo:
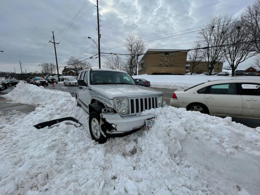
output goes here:
{"type": "Polygon", "coordinates": [[[138,75],[185,74],[188,52],[178,49],[148,49],[138,62],[138,75]]]}

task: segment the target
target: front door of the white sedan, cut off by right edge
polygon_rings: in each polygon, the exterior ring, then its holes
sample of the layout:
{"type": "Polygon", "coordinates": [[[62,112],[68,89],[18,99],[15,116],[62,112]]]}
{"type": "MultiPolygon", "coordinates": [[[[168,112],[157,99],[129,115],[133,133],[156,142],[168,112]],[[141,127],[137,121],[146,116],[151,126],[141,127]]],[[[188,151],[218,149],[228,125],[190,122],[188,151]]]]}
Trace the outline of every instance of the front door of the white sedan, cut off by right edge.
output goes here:
{"type": "Polygon", "coordinates": [[[238,83],[243,101],[243,117],[260,118],[260,83],[238,83]]]}

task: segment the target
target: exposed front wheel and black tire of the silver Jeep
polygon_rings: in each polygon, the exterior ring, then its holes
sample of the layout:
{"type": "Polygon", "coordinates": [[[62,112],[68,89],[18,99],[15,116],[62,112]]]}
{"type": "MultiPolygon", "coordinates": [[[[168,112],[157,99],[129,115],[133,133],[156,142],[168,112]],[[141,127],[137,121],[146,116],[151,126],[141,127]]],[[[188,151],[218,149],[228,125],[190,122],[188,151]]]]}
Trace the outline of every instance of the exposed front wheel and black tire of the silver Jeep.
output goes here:
{"type": "Polygon", "coordinates": [[[99,144],[103,144],[107,141],[107,138],[105,138],[99,130],[99,123],[100,123],[100,116],[96,112],[91,112],[88,119],[88,126],[91,138],[95,140],[96,142],[99,142],[99,144]]]}

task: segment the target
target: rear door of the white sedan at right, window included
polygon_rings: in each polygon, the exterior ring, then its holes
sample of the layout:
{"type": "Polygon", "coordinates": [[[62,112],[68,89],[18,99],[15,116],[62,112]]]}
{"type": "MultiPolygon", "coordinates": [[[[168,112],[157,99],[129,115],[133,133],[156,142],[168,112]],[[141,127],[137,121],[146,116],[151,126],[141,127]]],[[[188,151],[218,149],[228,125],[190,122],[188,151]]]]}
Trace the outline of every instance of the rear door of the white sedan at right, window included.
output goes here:
{"type": "Polygon", "coordinates": [[[242,97],[237,94],[236,83],[209,86],[204,98],[213,114],[240,116],[242,112],[242,97]]]}

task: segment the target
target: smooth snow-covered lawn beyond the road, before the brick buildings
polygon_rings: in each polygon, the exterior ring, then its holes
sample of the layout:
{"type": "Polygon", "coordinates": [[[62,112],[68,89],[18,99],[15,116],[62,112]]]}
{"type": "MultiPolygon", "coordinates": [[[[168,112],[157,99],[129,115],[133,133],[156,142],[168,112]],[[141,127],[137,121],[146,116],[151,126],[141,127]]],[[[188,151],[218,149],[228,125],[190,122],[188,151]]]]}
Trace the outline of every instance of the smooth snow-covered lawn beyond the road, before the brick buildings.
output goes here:
{"type": "MultiPolygon", "coordinates": [[[[224,71],[224,70],[223,70],[224,71]]],[[[146,79],[150,81],[152,88],[164,88],[164,89],[183,89],[194,86],[198,83],[203,83],[206,81],[218,80],[218,79],[257,79],[260,81],[260,77],[256,76],[218,76],[218,75],[135,75],[134,79],[146,79]]]]}

